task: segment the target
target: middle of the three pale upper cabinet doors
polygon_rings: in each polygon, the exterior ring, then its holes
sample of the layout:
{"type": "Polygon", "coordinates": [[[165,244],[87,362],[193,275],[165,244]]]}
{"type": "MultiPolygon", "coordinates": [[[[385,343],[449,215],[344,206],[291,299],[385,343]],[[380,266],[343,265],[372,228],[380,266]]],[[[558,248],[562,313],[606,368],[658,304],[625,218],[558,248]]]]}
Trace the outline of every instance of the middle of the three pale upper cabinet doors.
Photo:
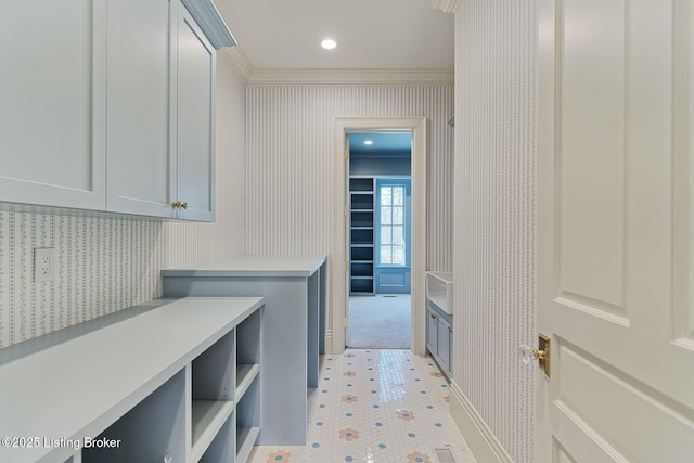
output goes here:
{"type": "Polygon", "coordinates": [[[108,2],[107,207],[170,217],[171,2],[108,2]]]}

